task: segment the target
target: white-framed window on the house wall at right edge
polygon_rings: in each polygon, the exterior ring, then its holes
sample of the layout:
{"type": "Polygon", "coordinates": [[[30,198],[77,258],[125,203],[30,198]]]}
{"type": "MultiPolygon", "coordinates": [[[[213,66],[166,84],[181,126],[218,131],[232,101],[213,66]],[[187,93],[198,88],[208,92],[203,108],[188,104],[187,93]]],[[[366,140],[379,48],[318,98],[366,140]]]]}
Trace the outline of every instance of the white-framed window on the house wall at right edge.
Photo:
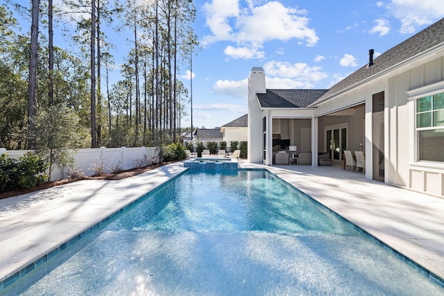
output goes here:
{"type": "Polygon", "coordinates": [[[444,92],[416,99],[418,161],[444,162],[444,92]]]}

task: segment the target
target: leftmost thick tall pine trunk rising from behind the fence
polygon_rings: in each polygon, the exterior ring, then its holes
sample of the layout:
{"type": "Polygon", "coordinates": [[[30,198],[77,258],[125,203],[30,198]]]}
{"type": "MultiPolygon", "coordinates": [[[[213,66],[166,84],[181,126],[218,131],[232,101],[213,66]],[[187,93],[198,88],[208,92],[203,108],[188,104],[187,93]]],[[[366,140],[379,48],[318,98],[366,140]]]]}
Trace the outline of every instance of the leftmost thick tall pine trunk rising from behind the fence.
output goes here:
{"type": "Polygon", "coordinates": [[[37,116],[37,58],[39,36],[40,0],[32,1],[31,8],[31,47],[29,51],[29,85],[28,85],[28,146],[35,148],[35,119],[37,116]]]}

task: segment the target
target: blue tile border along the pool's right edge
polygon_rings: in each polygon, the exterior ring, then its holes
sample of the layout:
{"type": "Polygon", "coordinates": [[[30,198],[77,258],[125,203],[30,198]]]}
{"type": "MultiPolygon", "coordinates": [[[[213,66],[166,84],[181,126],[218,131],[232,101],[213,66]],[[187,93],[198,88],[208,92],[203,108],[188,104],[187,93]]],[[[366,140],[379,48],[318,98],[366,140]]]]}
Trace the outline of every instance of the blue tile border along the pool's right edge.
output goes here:
{"type": "MultiPolygon", "coordinates": [[[[268,170],[266,170],[268,171],[268,170]]],[[[325,204],[322,204],[321,202],[318,202],[318,200],[315,200],[314,198],[312,198],[310,195],[308,195],[307,193],[304,193],[303,191],[301,191],[300,189],[298,189],[297,187],[293,186],[292,184],[290,184],[289,182],[283,180],[281,177],[279,177],[278,175],[275,175],[275,173],[272,173],[271,171],[268,171],[268,173],[271,173],[273,176],[277,177],[279,180],[281,180],[282,182],[284,182],[285,184],[288,184],[289,186],[293,187],[294,189],[296,189],[297,191],[299,191],[301,194],[305,195],[307,198],[309,198],[310,200],[316,202],[316,204],[318,204],[319,206],[323,207],[323,209],[326,209],[327,211],[330,211],[330,213],[332,213],[334,216],[338,217],[339,219],[343,220],[345,223],[348,223],[348,225],[351,225],[353,228],[355,228],[358,232],[360,232],[361,234],[364,234],[365,236],[367,236],[368,238],[372,239],[373,241],[375,241],[378,245],[381,245],[382,247],[385,247],[386,249],[390,250],[391,252],[393,252],[393,254],[395,254],[395,256],[397,256],[399,259],[401,259],[402,261],[405,261],[407,263],[409,263],[410,265],[412,265],[414,268],[418,269],[420,272],[422,272],[423,274],[427,275],[427,277],[429,277],[430,279],[438,282],[438,284],[441,284],[442,286],[444,286],[444,279],[439,277],[438,275],[436,275],[434,272],[431,272],[430,270],[428,270],[427,268],[425,268],[424,266],[420,265],[419,263],[417,263],[416,261],[413,261],[412,259],[410,259],[408,256],[405,256],[404,254],[402,254],[401,252],[399,252],[398,250],[395,250],[393,247],[391,247],[390,245],[387,245],[386,243],[384,243],[383,241],[381,241],[379,238],[377,238],[376,236],[373,236],[373,234],[370,234],[369,232],[367,232],[365,229],[362,229],[361,227],[359,227],[358,225],[356,225],[355,223],[352,223],[352,221],[348,220],[347,218],[344,218],[343,216],[339,215],[338,213],[336,213],[335,211],[333,211],[332,209],[330,209],[329,207],[325,206],[325,204]]]]}

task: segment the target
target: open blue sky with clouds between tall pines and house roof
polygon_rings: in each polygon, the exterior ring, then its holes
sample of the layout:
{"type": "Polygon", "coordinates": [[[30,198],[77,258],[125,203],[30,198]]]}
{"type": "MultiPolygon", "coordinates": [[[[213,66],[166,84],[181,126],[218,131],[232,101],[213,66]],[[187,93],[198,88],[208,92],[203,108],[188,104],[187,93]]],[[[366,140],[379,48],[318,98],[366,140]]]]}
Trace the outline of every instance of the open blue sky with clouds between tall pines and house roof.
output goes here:
{"type": "Polygon", "coordinates": [[[369,49],[377,56],[444,17],[442,0],[194,3],[193,124],[205,128],[247,113],[252,67],[264,68],[269,89],[327,89],[366,64],[369,49]]]}

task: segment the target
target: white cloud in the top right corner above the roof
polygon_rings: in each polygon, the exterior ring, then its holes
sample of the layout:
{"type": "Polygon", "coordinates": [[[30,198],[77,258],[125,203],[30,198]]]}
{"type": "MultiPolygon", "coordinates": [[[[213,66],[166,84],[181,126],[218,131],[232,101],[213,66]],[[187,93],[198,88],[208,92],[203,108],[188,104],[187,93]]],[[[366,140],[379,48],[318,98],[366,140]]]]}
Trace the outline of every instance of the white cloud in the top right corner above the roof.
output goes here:
{"type": "Polygon", "coordinates": [[[444,16],[444,5],[437,0],[392,0],[391,14],[400,19],[401,33],[414,33],[418,26],[434,23],[444,16]]]}

